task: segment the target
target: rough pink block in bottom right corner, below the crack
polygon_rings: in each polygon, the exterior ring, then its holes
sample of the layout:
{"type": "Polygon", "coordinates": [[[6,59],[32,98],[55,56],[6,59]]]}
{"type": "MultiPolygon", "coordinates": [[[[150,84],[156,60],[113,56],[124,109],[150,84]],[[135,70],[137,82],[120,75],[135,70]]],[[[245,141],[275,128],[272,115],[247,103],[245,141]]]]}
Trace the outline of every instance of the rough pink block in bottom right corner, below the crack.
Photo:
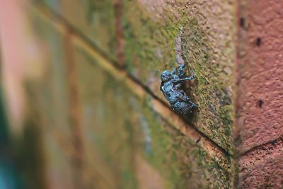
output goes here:
{"type": "Polygon", "coordinates": [[[241,156],[239,188],[283,188],[283,138],[241,156]]]}

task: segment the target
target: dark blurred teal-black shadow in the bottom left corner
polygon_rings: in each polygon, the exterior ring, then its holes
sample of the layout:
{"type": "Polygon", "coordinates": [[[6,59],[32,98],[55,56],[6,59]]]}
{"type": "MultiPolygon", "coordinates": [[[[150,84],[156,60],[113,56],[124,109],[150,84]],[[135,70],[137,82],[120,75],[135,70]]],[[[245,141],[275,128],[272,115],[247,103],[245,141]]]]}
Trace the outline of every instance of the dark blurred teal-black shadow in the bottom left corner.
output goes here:
{"type": "MultiPolygon", "coordinates": [[[[36,118],[36,116],[34,116],[36,118]]],[[[25,121],[21,137],[13,137],[8,131],[8,118],[0,88],[0,188],[45,189],[42,176],[42,139],[34,120],[25,121]],[[32,178],[32,179],[31,179],[32,178]]]]}

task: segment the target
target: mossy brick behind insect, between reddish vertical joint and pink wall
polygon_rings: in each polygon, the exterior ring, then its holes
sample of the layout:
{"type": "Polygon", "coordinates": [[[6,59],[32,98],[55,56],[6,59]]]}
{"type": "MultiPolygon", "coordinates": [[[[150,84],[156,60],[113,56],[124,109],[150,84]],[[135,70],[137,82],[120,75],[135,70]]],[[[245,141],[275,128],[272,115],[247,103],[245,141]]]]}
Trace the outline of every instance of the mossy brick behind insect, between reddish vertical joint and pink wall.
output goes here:
{"type": "Polygon", "coordinates": [[[190,96],[198,105],[198,130],[233,154],[236,4],[233,1],[128,1],[123,23],[127,70],[166,101],[158,70],[184,62],[197,79],[190,96]]]}

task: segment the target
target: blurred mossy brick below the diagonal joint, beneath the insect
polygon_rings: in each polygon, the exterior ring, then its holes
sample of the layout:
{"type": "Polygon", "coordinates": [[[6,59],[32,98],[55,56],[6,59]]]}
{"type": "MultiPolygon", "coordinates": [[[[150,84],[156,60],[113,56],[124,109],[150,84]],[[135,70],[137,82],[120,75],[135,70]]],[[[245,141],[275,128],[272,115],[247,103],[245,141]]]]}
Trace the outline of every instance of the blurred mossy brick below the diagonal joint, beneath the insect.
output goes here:
{"type": "Polygon", "coordinates": [[[129,78],[101,67],[76,38],[74,46],[88,187],[229,188],[231,172],[155,113],[129,78]]]}

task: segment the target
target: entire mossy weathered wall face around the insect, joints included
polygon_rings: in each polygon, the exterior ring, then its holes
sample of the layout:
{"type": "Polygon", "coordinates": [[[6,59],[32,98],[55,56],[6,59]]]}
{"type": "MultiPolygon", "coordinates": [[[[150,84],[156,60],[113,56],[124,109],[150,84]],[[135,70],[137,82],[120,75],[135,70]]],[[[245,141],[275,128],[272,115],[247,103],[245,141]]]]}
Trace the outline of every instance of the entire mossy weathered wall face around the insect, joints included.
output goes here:
{"type": "Polygon", "coordinates": [[[27,1],[18,6],[25,18],[21,29],[34,43],[24,48],[40,54],[37,61],[23,62],[23,136],[15,137],[15,145],[36,144],[30,154],[37,162],[18,151],[21,171],[30,171],[24,185],[231,188],[233,76],[227,79],[224,70],[233,70],[234,35],[228,33],[234,30],[233,4],[209,4],[229,10],[229,25],[224,20],[214,25],[226,31],[225,42],[206,28],[221,14],[194,17],[205,6],[188,1],[27,1]],[[173,113],[159,91],[158,69],[182,62],[199,76],[192,85],[200,106],[194,119],[173,113]]]}

